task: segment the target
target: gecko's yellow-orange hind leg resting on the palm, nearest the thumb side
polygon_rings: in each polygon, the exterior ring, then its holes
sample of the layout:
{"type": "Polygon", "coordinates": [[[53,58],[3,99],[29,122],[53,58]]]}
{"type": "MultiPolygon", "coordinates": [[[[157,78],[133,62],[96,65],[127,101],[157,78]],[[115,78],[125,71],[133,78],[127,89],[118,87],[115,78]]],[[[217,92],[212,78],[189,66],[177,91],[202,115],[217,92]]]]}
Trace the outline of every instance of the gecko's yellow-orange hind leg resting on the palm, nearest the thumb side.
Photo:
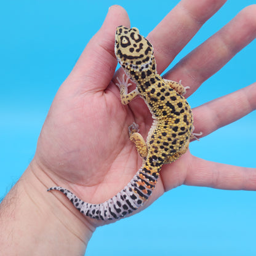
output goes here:
{"type": "Polygon", "coordinates": [[[132,142],[134,142],[134,144],[137,148],[138,154],[140,154],[140,157],[142,159],[145,159],[146,156],[148,155],[148,146],[146,146],[146,142],[145,142],[144,138],[142,137],[142,135],[138,133],[138,131],[139,131],[138,124],[133,122],[128,127],[128,130],[129,130],[130,140],[132,142]]]}

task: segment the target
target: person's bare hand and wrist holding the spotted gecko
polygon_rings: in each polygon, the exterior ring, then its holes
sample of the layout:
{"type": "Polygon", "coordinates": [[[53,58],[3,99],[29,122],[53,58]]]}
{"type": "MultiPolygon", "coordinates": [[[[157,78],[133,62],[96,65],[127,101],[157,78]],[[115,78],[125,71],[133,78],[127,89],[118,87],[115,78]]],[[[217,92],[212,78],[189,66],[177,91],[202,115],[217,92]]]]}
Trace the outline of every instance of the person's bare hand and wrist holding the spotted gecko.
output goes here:
{"type": "MultiPolygon", "coordinates": [[[[161,74],[225,1],[181,1],[148,35],[161,74]],[[179,33],[177,33],[179,31],[179,33]],[[165,40],[161,40],[165,38],[165,40]]],[[[256,6],[188,54],[164,78],[190,86],[186,97],[220,70],[256,36],[256,6]]],[[[3,255],[84,255],[97,226],[110,221],[84,217],[61,193],[60,185],[84,201],[99,203],[118,193],[142,164],[127,127],[140,126],[146,137],[152,118],[142,99],[122,106],[114,84],[116,26],[129,26],[120,6],[110,8],[102,28],[90,40],[58,90],[50,107],[33,161],[0,205],[3,255]]],[[[139,25],[138,25],[139,26],[139,25]]],[[[196,133],[206,136],[256,108],[256,84],[193,109],[196,133]]],[[[186,152],[162,167],[158,185],[142,207],[180,185],[226,190],[256,190],[256,169],[206,161],[186,152]]],[[[113,221],[111,221],[113,222],[113,221]]]]}

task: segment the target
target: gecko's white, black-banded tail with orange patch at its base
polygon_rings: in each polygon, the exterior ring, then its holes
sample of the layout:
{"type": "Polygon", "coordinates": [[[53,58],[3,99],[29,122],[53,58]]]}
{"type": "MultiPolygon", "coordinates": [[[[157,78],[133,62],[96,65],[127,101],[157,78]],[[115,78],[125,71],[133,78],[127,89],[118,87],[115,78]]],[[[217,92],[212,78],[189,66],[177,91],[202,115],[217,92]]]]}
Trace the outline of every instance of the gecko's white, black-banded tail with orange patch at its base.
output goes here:
{"type": "Polygon", "coordinates": [[[132,180],[113,198],[100,204],[84,202],[71,191],[61,186],[53,186],[47,191],[58,190],[70,199],[74,207],[82,214],[98,220],[113,220],[132,214],[148,200],[156,177],[145,173],[145,168],[140,168],[132,180]]]}

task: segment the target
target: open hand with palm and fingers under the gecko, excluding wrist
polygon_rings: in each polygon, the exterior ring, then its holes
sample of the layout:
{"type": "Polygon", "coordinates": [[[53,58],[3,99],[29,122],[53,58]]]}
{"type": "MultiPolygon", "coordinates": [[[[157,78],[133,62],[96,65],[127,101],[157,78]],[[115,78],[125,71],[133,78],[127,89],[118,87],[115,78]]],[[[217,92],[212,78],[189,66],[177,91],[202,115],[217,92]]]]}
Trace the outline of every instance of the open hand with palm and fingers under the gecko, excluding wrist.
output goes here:
{"type": "MultiPolygon", "coordinates": [[[[158,73],[225,1],[181,1],[148,35],[158,73]],[[163,40],[164,39],[164,40],[163,40]]],[[[191,95],[207,78],[256,36],[255,6],[242,10],[228,25],[181,60],[165,78],[190,86],[191,95]],[[246,18],[245,18],[246,17],[246,18]]],[[[129,140],[128,126],[137,122],[146,137],[152,119],[141,98],[123,106],[116,76],[114,32],[129,26],[122,7],[111,7],[102,28],[91,39],[52,103],[38,141],[35,160],[54,185],[87,202],[100,203],[118,193],[142,164],[129,140]],[[114,76],[114,78],[113,78],[114,76]]],[[[255,84],[193,110],[195,132],[203,136],[256,108],[255,84]],[[200,117],[200,118],[199,118],[200,117]],[[207,125],[206,125],[207,124],[207,125]]],[[[256,169],[226,166],[196,158],[188,151],[162,167],[153,202],[178,185],[256,190],[256,169]]],[[[148,204],[145,204],[147,206],[148,204]]],[[[102,225],[95,220],[95,225],[102,225]]]]}

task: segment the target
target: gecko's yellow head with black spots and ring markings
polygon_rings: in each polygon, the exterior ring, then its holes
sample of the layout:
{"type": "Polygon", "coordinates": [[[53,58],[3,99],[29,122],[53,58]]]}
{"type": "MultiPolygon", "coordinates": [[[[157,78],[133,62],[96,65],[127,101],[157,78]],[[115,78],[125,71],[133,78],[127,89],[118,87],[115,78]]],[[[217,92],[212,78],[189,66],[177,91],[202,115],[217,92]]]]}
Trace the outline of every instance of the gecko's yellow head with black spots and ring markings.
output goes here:
{"type": "Polygon", "coordinates": [[[126,73],[129,71],[156,70],[153,46],[137,28],[116,28],[114,53],[126,73]]]}

